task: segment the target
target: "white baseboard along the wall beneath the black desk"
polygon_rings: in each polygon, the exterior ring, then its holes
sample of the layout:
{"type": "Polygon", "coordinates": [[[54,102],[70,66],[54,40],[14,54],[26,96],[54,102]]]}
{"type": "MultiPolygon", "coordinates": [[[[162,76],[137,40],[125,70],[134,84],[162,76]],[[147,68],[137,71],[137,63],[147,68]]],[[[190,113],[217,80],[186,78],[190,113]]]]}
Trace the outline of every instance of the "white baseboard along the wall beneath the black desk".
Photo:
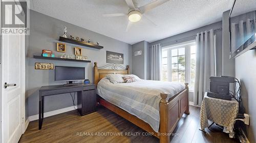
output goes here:
{"type": "MultiPolygon", "coordinates": [[[[45,112],[44,113],[44,118],[46,117],[50,117],[50,116],[54,116],[54,115],[57,115],[59,113],[63,113],[63,112],[68,112],[68,111],[71,111],[71,110],[75,110],[74,106],[70,106],[70,107],[67,107],[67,108],[62,108],[62,109],[57,109],[57,110],[53,110],[53,111],[49,111],[49,112],[45,112]]],[[[29,119],[29,122],[31,121],[35,121],[35,120],[38,120],[39,115],[33,115],[33,116],[30,116],[28,119],[29,119]]]]}

